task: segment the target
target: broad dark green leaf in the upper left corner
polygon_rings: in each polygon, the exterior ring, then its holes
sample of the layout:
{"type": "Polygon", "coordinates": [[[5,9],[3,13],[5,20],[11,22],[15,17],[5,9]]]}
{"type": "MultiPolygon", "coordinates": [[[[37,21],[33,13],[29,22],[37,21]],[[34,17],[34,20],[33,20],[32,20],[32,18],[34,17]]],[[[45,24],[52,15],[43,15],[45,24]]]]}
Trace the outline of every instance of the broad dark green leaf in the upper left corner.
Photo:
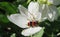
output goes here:
{"type": "Polygon", "coordinates": [[[17,7],[9,2],[0,2],[0,8],[4,9],[7,13],[17,12],[17,7]]]}

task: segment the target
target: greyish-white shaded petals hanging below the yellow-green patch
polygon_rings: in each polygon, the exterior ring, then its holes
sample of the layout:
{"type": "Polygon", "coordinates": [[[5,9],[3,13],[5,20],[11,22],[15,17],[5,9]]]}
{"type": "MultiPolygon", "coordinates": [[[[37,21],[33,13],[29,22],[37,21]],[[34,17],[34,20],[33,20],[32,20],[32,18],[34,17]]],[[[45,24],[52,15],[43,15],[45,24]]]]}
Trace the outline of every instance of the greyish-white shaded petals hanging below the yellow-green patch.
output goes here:
{"type": "Polygon", "coordinates": [[[54,21],[57,17],[58,11],[54,5],[42,5],[42,18],[47,18],[49,21],[54,21]]]}

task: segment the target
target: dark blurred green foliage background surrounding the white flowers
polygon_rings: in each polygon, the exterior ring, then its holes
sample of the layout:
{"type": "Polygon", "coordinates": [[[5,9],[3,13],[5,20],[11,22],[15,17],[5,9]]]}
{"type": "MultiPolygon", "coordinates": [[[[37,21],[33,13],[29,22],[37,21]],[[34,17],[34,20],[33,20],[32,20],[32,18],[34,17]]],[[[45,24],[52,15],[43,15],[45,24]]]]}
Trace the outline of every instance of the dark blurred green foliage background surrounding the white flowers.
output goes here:
{"type": "MultiPolygon", "coordinates": [[[[11,23],[7,15],[19,13],[17,8],[19,4],[27,8],[27,2],[27,0],[0,0],[0,37],[25,37],[21,35],[23,29],[11,23]]],[[[46,20],[40,23],[41,27],[45,27],[42,37],[60,37],[57,36],[57,33],[60,33],[60,5],[56,7],[58,19],[53,22],[46,20]]],[[[37,34],[34,37],[37,37],[37,34]]]]}

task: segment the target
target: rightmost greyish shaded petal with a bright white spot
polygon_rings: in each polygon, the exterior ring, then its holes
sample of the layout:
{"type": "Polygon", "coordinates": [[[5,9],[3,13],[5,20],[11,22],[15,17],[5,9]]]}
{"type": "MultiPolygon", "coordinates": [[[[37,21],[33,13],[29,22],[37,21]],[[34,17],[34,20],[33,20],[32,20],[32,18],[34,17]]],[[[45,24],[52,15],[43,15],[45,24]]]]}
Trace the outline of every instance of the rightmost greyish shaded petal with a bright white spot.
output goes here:
{"type": "Polygon", "coordinates": [[[48,8],[48,20],[54,21],[58,17],[57,8],[55,6],[49,6],[48,8]]]}

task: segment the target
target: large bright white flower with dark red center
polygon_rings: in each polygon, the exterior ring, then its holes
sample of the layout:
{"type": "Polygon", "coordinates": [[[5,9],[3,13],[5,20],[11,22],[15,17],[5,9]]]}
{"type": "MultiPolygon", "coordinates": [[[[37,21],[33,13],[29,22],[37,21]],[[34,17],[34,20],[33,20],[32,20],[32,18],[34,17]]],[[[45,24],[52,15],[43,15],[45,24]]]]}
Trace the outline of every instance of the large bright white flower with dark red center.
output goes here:
{"type": "Polygon", "coordinates": [[[37,25],[36,21],[41,20],[41,12],[39,11],[39,4],[37,2],[31,2],[28,6],[28,9],[19,5],[18,7],[21,14],[12,14],[8,15],[8,19],[16,24],[17,26],[24,29],[21,34],[24,36],[30,36],[39,32],[42,27],[37,25]]]}

